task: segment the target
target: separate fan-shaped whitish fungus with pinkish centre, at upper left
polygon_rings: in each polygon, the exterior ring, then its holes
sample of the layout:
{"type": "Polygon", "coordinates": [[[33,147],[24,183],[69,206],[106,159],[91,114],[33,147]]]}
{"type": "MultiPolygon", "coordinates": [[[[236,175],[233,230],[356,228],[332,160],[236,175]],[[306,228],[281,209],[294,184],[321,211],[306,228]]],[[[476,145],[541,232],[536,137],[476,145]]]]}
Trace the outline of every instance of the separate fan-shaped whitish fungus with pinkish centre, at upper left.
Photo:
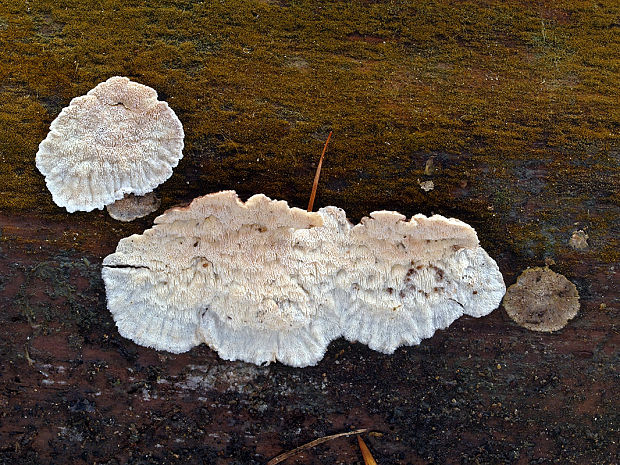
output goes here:
{"type": "Polygon", "coordinates": [[[91,211],[168,179],[183,156],[183,137],[154,89],[115,76],[62,109],[36,164],[57,205],[91,211]]]}

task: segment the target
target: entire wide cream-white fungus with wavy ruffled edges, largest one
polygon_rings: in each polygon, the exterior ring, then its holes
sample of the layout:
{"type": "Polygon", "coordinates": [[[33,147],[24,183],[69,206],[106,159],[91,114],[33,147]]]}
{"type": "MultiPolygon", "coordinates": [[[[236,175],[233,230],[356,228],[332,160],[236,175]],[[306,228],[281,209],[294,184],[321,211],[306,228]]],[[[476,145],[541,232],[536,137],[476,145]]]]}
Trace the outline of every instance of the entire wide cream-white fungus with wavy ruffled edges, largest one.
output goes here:
{"type": "Polygon", "coordinates": [[[315,364],[341,335],[391,353],[488,314],[505,292],[461,221],[382,211],[353,226],[335,207],[244,204],[233,191],[168,210],[103,265],[121,335],[177,353],[205,342],[256,364],[315,364]]]}

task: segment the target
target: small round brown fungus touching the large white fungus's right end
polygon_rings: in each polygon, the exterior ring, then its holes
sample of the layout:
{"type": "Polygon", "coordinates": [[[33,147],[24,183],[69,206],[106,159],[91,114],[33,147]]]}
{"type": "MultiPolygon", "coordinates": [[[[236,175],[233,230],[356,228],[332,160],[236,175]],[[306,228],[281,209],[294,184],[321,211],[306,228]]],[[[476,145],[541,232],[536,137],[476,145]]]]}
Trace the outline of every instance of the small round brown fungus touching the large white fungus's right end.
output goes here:
{"type": "Polygon", "coordinates": [[[579,311],[577,287],[549,268],[529,268],[508,288],[506,313],[532,331],[562,329],[579,311]]]}

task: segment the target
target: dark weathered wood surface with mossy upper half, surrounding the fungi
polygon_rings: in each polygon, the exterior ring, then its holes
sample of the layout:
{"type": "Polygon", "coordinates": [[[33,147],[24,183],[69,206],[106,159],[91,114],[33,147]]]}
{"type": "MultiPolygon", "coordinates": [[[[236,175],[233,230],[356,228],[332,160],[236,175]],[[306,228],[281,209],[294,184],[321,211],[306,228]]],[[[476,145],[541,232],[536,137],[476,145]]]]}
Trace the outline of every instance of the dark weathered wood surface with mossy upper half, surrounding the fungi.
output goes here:
{"type": "MultiPolygon", "coordinates": [[[[617,461],[620,8],[411,3],[0,2],[0,463],[262,464],[352,428],[382,465],[617,461]],[[34,164],[113,75],[184,124],[158,213],[221,189],[304,207],[333,131],[315,208],[457,217],[507,285],[554,262],[579,314],[541,334],[500,307],[393,355],[339,339],[304,369],[133,344],[101,261],[155,214],[68,214],[34,164]]],[[[289,463],[361,460],[343,438],[289,463]]]]}

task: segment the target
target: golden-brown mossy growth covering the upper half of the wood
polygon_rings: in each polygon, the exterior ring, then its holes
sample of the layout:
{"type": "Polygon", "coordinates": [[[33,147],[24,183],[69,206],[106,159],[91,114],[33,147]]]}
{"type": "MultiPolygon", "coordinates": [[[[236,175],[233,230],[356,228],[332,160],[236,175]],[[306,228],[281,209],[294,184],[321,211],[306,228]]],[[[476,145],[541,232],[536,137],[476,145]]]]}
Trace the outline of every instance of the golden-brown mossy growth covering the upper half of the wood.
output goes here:
{"type": "MultiPolygon", "coordinates": [[[[450,213],[493,242],[508,229],[514,250],[539,257],[564,250],[584,205],[600,212],[591,228],[617,215],[618,7],[88,3],[0,6],[3,211],[66,217],[34,167],[37,145],[72,97],[120,74],[156,88],[184,123],[185,157],[160,187],[166,207],[221,188],[304,206],[333,130],[317,203],[353,219],[450,213]],[[433,154],[438,187],[424,193],[433,154]],[[608,161],[574,163],[591,157],[608,161]],[[524,179],[537,160],[548,163],[524,179]]],[[[596,253],[619,261],[611,249],[596,253]]]]}

